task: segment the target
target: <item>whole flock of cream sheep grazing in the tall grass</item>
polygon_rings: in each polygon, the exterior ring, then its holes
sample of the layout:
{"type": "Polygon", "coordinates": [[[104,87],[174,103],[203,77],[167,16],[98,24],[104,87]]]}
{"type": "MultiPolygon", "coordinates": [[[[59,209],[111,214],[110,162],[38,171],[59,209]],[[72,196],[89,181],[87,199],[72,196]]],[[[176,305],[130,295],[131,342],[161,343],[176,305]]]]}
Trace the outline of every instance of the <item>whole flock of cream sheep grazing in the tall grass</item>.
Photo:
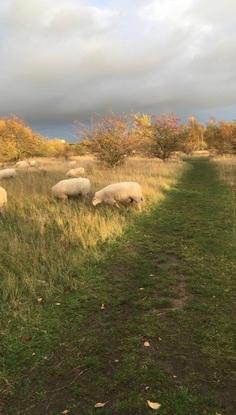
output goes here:
{"type": "MultiPolygon", "coordinates": [[[[17,169],[36,167],[35,160],[23,160],[16,163],[14,168],[0,170],[0,180],[16,177],[17,169]]],[[[70,169],[67,179],[61,180],[52,187],[52,195],[57,199],[73,197],[87,197],[91,190],[90,180],[81,177],[85,174],[83,167],[70,169]]],[[[134,203],[140,207],[144,201],[141,186],[137,182],[112,183],[94,194],[92,203],[94,206],[107,203],[110,206],[118,206],[121,203],[134,203]]],[[[0,212],[3,212],[7,204],[7,192],[0,186],[0,212]]]]}

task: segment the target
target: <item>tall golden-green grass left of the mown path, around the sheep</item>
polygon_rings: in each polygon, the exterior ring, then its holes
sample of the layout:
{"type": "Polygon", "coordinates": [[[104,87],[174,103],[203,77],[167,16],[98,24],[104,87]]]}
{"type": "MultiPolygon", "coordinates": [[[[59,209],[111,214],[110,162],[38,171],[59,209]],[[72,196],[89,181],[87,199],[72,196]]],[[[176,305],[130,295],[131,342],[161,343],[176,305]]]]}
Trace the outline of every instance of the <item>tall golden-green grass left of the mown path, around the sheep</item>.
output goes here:
{"type": "MultiPolygon", "coordinates": [[[[91,158],[81,158],[78,165],[85,167],[92,192],[112,182],[138,181],[145,210],[164,197],[183,168],[182,162],[145,159],[128,160],[113,170],[91,158]]],[[[85,261],[102,256],[101,243],[121,235],[140,214],[131,207],[94,208],[92,195],[86,201],[54,200],[51,187],[69,168],[66,161],[41,160],[38,168],[0,183],[8,192],[7,211],[0,218],[0,290],[2,304],[17,314],[39,297],[49,300],[65,288],[76,288],[85,261]]],[[[22,318],[28,318],[26,313],[22,318]]]]}

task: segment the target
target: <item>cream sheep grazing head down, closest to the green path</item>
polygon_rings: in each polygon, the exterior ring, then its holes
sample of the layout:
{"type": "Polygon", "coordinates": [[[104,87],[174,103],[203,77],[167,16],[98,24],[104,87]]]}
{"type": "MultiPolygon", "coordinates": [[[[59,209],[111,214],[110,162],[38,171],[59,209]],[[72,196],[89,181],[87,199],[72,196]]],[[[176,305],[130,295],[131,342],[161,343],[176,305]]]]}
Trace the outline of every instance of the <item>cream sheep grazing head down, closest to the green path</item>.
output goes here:
{"type": "Polygon", "coordinates": [[[142,189],[137,182],[119,182],[110,184],[96,192],[92,203],[97,206],[104,202],[119,207],[117,202],[135,202],[140,208],[140,203],[143,200],[142,189]]]}

